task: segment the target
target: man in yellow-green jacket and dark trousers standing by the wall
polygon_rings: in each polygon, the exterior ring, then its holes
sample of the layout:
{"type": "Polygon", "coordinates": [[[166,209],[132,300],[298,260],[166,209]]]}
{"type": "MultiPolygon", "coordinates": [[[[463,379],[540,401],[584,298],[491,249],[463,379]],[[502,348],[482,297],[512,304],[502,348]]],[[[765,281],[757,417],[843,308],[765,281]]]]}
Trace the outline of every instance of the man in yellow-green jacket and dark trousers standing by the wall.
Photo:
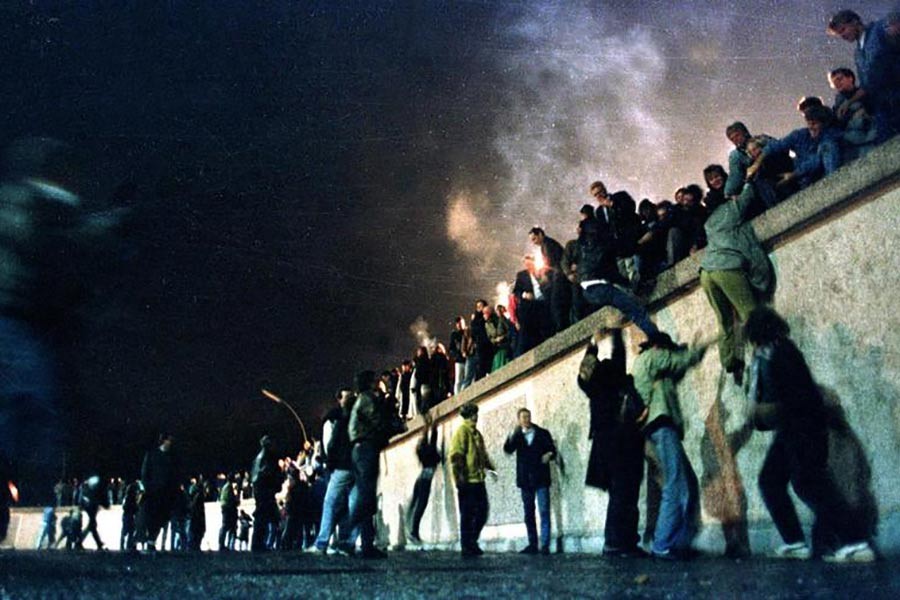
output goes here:
{"type": "Polygon", "coordinates": [[[487,488],[484,480],[494,465],[477,429],[478,406],[469,402],[459,411],[462,425],[450,440],[450,464],[459,500],[459,541],[463,558],[481,556],[478,537],[488,517],[487,488]]]}

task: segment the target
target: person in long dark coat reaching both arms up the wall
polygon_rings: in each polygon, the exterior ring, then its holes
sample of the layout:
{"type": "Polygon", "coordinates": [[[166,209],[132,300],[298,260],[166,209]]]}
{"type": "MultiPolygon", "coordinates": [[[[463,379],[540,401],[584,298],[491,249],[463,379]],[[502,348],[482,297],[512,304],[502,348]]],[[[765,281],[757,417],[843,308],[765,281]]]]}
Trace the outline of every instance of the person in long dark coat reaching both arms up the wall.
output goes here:
{"type": "Polygon", "coordinates": [[[590,400],[591,409],[591,454],[585,485],[609,492],[604,556],[644,557],[647,554],[638,547],[637,533],[644,438],[636,422],[643,411],[639,400],[629,398],[629,393],[636,394],[625,373],[622,330],[611,333],[612,357],[598,358],[597,343],[607,335],[601,329],[591,338],[578,371],[578,386],[590,400]]]}

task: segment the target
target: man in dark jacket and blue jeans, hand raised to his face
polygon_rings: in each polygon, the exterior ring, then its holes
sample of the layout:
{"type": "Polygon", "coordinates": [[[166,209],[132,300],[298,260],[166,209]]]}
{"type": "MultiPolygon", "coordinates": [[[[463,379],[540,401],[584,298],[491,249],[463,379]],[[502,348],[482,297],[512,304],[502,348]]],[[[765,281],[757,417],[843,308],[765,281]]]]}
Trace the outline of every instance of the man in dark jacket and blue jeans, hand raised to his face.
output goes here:
{"type": "Polygon", "coordinates": [[[531,411],[520,408],[518,424],[506,438],[503,451],[516,453],[516,485],[522,492],[528,545],[522,554],[538,553],[534,501],[541,513],[541,554],[550,554],[550,461],[556,457],[556,446],[550,432],[531,422],[531,411]]]}

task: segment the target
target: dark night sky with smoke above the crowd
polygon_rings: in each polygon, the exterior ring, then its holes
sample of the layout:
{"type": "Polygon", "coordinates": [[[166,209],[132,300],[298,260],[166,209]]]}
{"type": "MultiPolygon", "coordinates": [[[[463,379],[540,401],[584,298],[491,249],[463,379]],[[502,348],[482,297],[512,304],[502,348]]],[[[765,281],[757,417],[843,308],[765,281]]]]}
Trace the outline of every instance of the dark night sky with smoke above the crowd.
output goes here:
{"type": "Polygon", "coordinates": [[[590,181],[658,201],[725,162],[729,122],[801,126],[852,66],[837,8],[4,2],[0,143],[72,143],[85,197],[130,210],[69,348],[71,468],[129,474],[160,428],[198,469],[265,431],[295,450],[261,386],[312,427],[417,317],[443,336],[511,278],[529,227],[568,239],[590,181]]]}

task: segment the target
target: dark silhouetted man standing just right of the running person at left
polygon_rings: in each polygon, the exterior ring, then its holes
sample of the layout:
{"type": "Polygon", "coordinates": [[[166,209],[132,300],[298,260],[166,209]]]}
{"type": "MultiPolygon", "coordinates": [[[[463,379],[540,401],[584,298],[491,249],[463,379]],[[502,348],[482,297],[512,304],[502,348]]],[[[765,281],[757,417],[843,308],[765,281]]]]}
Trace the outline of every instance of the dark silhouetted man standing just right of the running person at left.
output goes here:
{"type": "Polygon", "coordinates": [[[178,466],[172,454],[173,438],[168,433],[159,436],[159,446],[144,456],[141,482],[144,495],[138,513],[139,538],[146,543],[146,551],[156,551],[159,530],[169,522],[178,501],[178,466]]]}

